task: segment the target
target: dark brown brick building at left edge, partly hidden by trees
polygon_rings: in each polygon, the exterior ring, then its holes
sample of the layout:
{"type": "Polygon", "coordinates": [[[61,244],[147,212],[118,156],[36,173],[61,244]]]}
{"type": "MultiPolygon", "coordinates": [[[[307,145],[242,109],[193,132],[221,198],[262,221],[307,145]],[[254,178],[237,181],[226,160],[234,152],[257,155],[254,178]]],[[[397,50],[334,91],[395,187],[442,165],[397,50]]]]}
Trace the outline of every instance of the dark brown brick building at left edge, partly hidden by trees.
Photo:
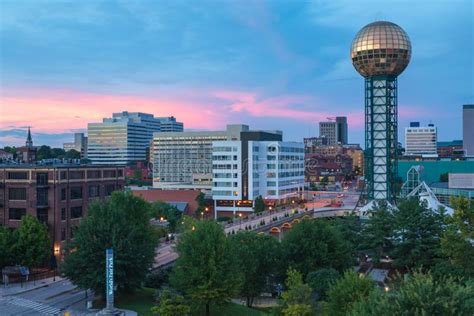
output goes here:
{"type": "Polygon", "coordinates": [[[124,185],[123,168],[78,164],[0,164],[0,224],[31,214],[48,227],[58,262],[90,203],[124,185]]]}

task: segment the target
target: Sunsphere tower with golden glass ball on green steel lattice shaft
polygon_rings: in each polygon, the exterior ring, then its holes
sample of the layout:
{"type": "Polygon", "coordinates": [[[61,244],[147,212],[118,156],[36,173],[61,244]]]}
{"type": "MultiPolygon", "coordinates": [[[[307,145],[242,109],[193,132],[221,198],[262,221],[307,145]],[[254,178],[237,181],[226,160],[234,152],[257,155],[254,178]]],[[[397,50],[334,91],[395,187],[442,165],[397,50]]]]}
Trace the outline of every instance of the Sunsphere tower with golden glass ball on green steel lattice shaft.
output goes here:
{"type": "Polygon", "coordinates": [[[365,78],[365,179],[369,200],[393,201],[397,175],[397,76],[410,62],[411,44],[398,25],[363,27],[351,47],[354,68],[365,78]]]}

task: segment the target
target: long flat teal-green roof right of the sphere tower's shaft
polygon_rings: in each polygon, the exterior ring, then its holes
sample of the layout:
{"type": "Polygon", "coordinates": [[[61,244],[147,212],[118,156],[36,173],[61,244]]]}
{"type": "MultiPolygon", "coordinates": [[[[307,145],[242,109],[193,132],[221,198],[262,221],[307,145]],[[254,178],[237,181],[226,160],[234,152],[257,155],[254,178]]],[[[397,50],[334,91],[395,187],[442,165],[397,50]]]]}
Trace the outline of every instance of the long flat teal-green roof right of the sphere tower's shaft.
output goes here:
{"type": "Polygon", "coordinates": [[[427,184],[439,182],[443,173],[474,173],[474,160],[438,161],[399,161],[398,175],[406,181],[407,172],[412,166],[423,166],[422,180],[427,184]]]}

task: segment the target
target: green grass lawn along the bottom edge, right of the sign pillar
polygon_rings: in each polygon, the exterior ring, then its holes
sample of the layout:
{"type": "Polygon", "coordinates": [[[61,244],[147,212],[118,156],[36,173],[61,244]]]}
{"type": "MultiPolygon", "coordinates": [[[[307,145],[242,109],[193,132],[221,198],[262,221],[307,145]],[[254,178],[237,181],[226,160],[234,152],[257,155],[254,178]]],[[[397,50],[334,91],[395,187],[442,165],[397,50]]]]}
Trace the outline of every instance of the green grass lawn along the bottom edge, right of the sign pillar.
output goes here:
{"type": "MultiPolygon", "coordinates": [[[[137,290],[133,294],[124,295],[122,297],[117,297],[116,306],[118,308],[129,309],[136,311],[139,316],[149,316],[153,315],[150,312],[150,309],[154,305],[153,295],[155,293],[154,289],[143,288],[137,290]]],[[[201,315],[204,315],[202,313],[201,315]]],[[[269,315],[265,312],[248,308],[246,306],[237,305],[237,304],[227,304],[225,306],[211,306],[211,315],[212,316],[266,316],[269,315]]],[[[196,315],[198,316],[198,315],[196,315]]]]}

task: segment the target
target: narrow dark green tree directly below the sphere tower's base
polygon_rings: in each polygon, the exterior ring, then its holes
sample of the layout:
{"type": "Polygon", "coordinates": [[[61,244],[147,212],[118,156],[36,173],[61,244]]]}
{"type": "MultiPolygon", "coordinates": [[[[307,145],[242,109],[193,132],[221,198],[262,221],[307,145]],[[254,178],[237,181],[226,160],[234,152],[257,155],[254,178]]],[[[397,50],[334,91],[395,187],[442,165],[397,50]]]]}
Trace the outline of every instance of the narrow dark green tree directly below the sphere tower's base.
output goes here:
{"type": "Polygon", "coordinates": [[[362,229],[360,249],[374,262],[393,250],[394,216],[385,202],[379,202],[370,211],[369,220],[362,229]]]}

